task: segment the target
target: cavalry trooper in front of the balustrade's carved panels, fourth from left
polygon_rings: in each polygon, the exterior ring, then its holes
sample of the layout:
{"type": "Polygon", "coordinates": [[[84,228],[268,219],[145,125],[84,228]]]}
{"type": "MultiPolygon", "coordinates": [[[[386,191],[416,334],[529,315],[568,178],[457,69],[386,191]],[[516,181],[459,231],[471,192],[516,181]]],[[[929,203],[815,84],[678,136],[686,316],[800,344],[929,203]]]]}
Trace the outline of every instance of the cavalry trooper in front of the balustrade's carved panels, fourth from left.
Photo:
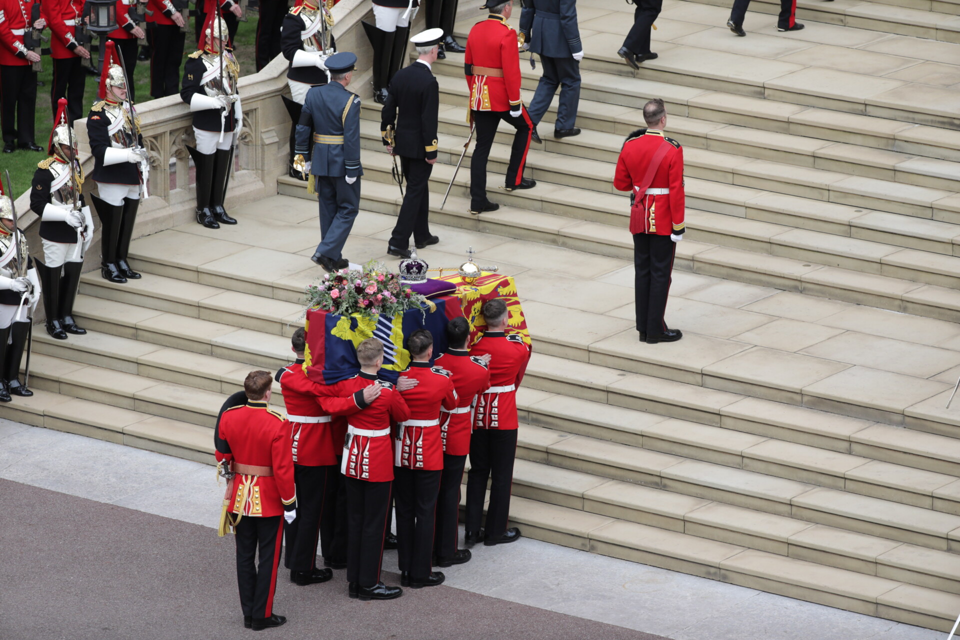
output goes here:
{"type": "Polygon", "coordinates": [[[230,167],[243,127],[237,81],[240,64],[227,45],[227,22],[207,13],[200,51],[183,67],[180,98],[193,113],[197,147],[187,147],[197,167],[197,222],[211,229],[236,225],[224,208],[230,167]]]}

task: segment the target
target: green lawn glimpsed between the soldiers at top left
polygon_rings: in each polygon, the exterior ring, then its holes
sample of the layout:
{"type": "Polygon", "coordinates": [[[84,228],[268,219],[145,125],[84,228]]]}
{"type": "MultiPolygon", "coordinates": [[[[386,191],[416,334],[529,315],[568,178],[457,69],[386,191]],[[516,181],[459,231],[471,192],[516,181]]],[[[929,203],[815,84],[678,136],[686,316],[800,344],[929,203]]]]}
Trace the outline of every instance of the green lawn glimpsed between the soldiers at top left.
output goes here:
{"type": "MultiPolygon", "coordinates": [[[[192,26],[192,25],[191,25],[192,26]]],[[[49,35],[49,32],[47,32],[49,35]]],[[[252,14],[249,22],[241,22],[235,38],[235,53],[240,61],[241,75],[249,75],[256,71],[253,60],[254,47],[256,39],[256,15],[252,14]]],[[[193,40],[193,31],[187,34],[187,43],[184,47],[184,57],[196,51],[196,45],[193,40]]],[[[94,48],[97,41],[94,40],[94,48]]],[[[30,188],[30,183],[34,178],[36,163],[47,157],[46,146],[50,139],[50,128],[53,126],[54,114],[50,107],[50,87],[53,79],[53,60],[49,56],[44,56],[42,60],[43,71],[38,74],[38,79],[43,82],[43,86],[36,87],[36,144],[44,148],[43,152],[29,152],[17,150],[12,154],[0,154],[0,170],[10,172],[10,178],[13,184],[13,194],[19,197],[24,191],[30,188]]],[[[84,91],[84,115],[88,108],[97,100],[97,86],[99,78],[87,76],[84,91]]],[[[136,95],[143,99],[138,104],[150,99],[150,60],[138,61],[133,72],[133,83],[136,86],[136,95]]],[[[2,172],[0,172],[2,175],[2,172]]],[[[4,179],[6,189],[7,178],[4,179]]]]}

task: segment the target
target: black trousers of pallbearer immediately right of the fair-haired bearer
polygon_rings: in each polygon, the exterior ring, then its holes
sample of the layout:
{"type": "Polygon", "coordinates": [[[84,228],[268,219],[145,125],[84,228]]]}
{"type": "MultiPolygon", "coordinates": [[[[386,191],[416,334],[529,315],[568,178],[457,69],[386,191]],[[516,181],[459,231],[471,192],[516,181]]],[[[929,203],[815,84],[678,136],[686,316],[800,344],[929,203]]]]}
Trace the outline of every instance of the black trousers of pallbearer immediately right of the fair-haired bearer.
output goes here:
{"type": "Polygon", "coordinates": [[[434,518],[441,473],[440,469],[394,467],[396,560],[400,571],[409,571],[415,581],[426,579],[432,570],[434,518]]]}

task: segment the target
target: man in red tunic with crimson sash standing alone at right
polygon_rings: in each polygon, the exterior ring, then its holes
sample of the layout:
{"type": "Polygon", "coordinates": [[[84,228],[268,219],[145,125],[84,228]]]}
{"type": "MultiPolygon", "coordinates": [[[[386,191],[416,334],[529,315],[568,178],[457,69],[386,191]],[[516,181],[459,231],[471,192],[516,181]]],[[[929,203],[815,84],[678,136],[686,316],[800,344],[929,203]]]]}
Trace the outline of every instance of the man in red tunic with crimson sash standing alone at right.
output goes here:
{"type": "Polygon", "coordinates": [[[673,343],[684,337],[667,328],[676,243],[684,239],[684,150],[663,135],[666,108],[659,98],[643,106],[647,129],[630,134],[616,161],[613,186],[629,191],[634,234],[636,330],[640,342],[673,343]]]}

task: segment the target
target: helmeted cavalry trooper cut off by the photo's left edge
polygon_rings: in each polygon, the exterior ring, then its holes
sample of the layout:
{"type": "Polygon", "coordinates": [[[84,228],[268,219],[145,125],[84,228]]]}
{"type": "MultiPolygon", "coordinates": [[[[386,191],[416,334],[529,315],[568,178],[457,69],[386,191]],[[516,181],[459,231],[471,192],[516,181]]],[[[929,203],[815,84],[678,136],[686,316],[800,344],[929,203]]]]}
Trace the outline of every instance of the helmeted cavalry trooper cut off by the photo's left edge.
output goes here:
{"type": "Polygon", "coordinates": [[[30,319],[40,283],[23,231],[13,230],[13,202],[0,186],[0,402],[34,394],[19,380],[20,359],[28,347],[30,319]],[[14,237],[15,233],[15,237],[14,237]],[[26,265],[26,267],[24,267],[26,265]]]}

